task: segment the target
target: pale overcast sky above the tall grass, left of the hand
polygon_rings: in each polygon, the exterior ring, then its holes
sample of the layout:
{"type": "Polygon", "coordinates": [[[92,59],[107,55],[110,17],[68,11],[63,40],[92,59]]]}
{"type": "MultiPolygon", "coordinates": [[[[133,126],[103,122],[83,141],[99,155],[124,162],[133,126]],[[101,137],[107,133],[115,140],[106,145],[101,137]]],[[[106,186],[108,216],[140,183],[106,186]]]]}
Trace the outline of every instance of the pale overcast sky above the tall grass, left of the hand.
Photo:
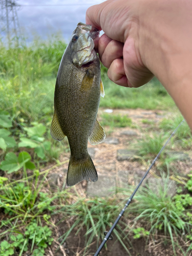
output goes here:
{"type": "Polygon", "coordinates": [[[42,38],[61,32],[66,42],[78,22],[85,23],[86,10],[104,0],[17,0],[20,27],[24,28],[29,40],[38,33],[42,38]]]}

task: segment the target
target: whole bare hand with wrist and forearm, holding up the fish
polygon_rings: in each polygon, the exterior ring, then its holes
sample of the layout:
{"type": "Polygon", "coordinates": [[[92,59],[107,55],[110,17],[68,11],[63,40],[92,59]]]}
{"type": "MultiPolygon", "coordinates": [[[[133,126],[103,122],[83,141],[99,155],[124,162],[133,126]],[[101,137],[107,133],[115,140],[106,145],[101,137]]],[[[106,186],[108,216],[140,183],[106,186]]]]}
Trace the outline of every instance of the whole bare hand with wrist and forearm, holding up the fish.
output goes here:
{"type": "Polygon", "coordinates": [[[192,2],[108,0],[87,10],[86,23],[105,33],[95,46],[109,78],[140,87],[155,75],[192,130],[192,2]]]}

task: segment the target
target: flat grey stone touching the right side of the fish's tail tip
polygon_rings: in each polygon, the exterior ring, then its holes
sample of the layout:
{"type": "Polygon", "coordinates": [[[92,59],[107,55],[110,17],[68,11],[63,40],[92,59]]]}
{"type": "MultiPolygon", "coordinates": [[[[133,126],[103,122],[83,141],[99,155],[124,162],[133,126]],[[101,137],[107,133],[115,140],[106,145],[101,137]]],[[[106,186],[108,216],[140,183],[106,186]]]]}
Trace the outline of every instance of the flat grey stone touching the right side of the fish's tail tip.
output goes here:
{"type": "Polygon", "coordinates": [[[89,197],[107,197],[115,191],[116,187],[116,174],[114,175],[101,175],[98,174],[98,181],[88,181],[87,195],[89,197]]]}

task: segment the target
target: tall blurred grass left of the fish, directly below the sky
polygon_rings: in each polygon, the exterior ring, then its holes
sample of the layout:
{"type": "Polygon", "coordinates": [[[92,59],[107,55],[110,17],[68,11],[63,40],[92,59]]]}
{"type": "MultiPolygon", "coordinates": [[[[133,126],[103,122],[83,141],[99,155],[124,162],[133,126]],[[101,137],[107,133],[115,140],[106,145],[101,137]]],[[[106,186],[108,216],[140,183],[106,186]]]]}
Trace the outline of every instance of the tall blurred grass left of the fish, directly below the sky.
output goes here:
{"type": "Polygon", "coordinates": [[[7,49],[0,42],[1,108],[27,122],[53,114],[56,74],[66,44],[57,37],[7,49]]]}

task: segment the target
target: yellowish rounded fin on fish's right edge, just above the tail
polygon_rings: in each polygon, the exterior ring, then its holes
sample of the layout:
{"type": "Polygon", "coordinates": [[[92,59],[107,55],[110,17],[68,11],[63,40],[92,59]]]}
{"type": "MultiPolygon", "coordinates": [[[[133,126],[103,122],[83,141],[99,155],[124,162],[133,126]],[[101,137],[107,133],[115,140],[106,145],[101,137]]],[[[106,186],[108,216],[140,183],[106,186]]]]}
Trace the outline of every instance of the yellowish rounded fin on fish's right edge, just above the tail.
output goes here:
{"type": "Polygon", "coordinates": [[[103,142],[104,139],[105,139],[104,130],[102,129],[100,123],[96,120],[95,125],[93,127],[93,131],[89,136],[89,142],[92,145],[96,145],[103,142]]]}

